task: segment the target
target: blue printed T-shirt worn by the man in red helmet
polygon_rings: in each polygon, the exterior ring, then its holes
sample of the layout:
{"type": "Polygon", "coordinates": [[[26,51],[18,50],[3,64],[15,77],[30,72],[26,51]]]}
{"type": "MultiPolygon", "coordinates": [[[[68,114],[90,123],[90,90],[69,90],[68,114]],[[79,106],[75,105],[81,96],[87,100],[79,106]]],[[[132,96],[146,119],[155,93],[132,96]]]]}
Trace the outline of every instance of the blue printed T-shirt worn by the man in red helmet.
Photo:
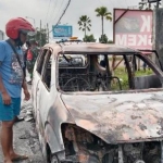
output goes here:
{"type": "MultiPolygon", "coordinates": [[[[23,66],[23,51],[16,48],[23,66]]],[[[23,71],[16,55],[7,41],[0,41],[0,75],[11,98],[20,98],[23,82],[23,71]]]]}

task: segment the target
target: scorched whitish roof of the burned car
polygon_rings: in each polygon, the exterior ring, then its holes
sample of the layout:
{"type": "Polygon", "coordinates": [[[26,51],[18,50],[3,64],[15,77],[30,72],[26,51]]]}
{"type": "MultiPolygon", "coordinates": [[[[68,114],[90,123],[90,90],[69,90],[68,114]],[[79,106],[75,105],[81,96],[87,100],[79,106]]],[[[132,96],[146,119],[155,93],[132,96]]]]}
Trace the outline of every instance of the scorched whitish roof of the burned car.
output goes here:
{"type": "Polygon", "coordinates": [[[97,43],[97,42],[65,42],[65,43],[48,43],[45,47],[55,49],[57,53],[63,52],[67,54],[136,54],[141,53],[129,47],[117,46],[113,43],[97,43]]]}

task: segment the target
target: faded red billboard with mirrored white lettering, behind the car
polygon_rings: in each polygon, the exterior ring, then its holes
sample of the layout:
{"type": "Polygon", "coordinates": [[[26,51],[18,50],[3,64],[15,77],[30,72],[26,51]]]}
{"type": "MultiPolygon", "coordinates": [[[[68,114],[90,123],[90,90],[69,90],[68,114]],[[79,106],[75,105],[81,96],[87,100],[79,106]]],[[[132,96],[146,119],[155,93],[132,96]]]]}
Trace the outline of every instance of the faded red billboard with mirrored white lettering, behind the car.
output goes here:
{"type": "Polygon", "coordinates": [[[114,42],[152,49],[152,11],[114,9],[114,42]]]}

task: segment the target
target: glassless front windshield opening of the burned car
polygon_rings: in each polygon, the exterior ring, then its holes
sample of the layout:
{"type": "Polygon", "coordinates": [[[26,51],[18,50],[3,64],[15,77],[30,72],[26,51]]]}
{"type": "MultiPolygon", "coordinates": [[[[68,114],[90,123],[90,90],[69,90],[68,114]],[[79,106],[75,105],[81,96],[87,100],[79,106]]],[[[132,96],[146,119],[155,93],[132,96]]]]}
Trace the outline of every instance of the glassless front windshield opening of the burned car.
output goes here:
{"type": "Polygon", "coordinates": [[[141,54],[60,54],[58,61],[59,87],[62,91],[120,91],[162,87],[154,67],[141,54]],[[141,67],[136,71],[138,64],[141,67]]]}

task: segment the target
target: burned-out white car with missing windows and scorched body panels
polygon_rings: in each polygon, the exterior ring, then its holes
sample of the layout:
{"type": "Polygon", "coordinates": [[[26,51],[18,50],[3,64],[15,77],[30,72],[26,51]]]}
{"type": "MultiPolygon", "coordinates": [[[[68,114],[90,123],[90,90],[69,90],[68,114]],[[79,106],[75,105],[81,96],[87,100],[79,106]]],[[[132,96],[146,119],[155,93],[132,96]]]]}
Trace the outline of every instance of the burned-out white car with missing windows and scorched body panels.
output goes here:
{"type": "Polygon", "coordinates": [[[32,87],[45,162],[163,162],[162,78],[161,67],[139,50],[84,42],[46,45],[32,87]],[[74,55],[83,64],[76,64],[74,55]],[[113,55],[125,63],[126,85],[111,71],[113,55]],[[130,58],[148,64],[151,72],[137,74],[130,58]]]}

